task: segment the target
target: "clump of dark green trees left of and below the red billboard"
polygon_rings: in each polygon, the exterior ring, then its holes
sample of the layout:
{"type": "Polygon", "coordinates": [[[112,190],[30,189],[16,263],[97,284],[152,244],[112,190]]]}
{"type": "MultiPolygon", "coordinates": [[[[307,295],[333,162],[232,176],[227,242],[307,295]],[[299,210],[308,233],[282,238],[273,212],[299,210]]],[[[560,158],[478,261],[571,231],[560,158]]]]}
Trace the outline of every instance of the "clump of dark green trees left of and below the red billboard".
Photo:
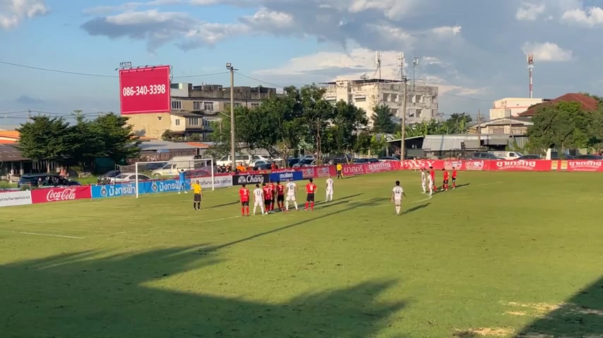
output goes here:
{"type": "Polygon", "coordinates": [[[138,156],[138,138],[127,118],[109,113],[95,120],[85,120],[76,111],[76,123],[64,118],[35,116],[18,129],[17,148],[33,161],[54,161],[64,165],[90,163],[94,158],[114,161],[138,156]]]}

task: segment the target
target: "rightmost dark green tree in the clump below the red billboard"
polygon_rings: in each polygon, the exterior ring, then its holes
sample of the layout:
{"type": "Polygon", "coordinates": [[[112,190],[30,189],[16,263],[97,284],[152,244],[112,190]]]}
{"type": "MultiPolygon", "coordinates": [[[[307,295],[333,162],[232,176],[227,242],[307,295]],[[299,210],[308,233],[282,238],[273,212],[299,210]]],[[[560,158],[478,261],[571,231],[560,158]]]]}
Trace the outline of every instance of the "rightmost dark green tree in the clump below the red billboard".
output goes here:
{"type": "Polygon", "coordinates": [[[136,158],[141,149],[141,142],[128,125],[128,118],[109,113],[96,118],[90,123],[90,131],[97,137],[98,146],[102,149],[102,157],[112,158],[119,162],[126,158],[136,158]]]}

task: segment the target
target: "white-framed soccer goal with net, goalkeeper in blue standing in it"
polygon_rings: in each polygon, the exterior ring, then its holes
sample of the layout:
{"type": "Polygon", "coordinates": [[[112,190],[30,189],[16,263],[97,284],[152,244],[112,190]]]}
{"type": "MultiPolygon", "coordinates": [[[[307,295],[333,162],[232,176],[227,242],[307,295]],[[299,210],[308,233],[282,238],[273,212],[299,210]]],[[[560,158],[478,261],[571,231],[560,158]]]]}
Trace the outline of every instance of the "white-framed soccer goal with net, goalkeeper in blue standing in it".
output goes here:
{"type": "MultiPolygon", "coordinates": [[[[175,158],[174,158],[175,159],[175,158]]],[[[128,170],[121,166],[121,170],[128,170]]],[[[141,194],[157,192],[189,192],[191,183],[199,181],[203,189],[215,190],[215,163],[213,158],[177,161],[136,162],[133,165],[133,178],[136,198],[141,194]],[[182,180],[184,175],[184,181],[182,180]]],[[[121,171],[122,175],[124,171],[121,171]]],[[[232,179],[231,179],[232,180],[232,179]]],[[[218,182],[222,184],[222,182],[218,182]]]]}

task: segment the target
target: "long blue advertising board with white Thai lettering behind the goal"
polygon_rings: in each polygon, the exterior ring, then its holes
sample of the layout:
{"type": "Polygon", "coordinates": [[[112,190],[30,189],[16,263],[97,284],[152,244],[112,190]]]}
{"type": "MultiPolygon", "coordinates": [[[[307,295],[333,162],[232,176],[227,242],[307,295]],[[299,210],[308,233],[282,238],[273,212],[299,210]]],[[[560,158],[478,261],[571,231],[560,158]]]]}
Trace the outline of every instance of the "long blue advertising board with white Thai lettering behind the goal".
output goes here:
{"type": "MultiPolygon", "coordinates": [[[[188,181],[188,180],[187,180],[188,181]]],[[[186,182],[189,186],[189,182],[186,182]]],[[[150,181],[138,183],[138,194],[154,194],[155,192],[178,192],[180,182],[177,180],[150,181]]],[[[134,183],[105,184],[92,186],[92,199],[136,195],[134,183]]]]}

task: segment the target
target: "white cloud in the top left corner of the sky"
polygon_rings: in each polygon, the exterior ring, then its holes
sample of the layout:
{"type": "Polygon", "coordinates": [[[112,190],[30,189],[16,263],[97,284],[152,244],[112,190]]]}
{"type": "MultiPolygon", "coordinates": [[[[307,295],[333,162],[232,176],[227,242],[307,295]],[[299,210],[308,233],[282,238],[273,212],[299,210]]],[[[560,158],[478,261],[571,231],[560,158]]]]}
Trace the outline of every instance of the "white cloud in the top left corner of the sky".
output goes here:
{"type": "Polygon", "coordinates": [[[26,18],[47,13],[44,0],[0,0],[0,29],[17,27],[26,18]]]}

